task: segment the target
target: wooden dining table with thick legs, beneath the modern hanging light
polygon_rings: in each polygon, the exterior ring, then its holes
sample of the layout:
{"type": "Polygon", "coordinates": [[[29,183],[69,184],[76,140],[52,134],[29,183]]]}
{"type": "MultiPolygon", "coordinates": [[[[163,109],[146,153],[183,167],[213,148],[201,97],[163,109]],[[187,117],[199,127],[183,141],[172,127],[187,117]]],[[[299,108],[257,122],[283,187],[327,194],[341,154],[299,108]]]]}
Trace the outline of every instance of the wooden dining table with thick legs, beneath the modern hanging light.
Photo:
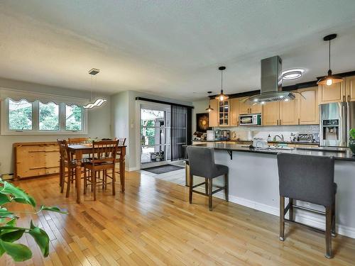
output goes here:
{"type": "MultiPolygon", "coordinates": [[[[75,182],[77,184],[77,203],[80,203],[80,190],[81,190],[81,174],[82,174],[82,155],[92,154],[92,143],[83,143],[68,145],[69,152],[75,157],[75,182]]],[[[116,162],[119,163],[119,179],[121,181],[121,192],[124,192],[124,179],[125,179],[125,160],[126,145],[119,145],[117,147],[118,158],[116,162]]]]}

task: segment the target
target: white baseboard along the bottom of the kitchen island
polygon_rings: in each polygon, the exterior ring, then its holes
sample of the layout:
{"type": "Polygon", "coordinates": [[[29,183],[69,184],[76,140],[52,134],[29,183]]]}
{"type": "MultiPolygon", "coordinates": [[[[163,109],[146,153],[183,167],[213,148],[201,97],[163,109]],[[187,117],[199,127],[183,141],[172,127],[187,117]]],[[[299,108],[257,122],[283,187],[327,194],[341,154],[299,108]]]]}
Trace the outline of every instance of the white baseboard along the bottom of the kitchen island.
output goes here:
{"type": "MultiPolygon", "coordinates": [[[[197,187],[196,189],[201,190],[201,192],[204,192],[204,188],[202,187],[197,187]]],[[[216,196],[219,199],[224,199],[224,192],[217,192],[216,194],[214,194],[214,196],[216,196]]],[[[266,204],[261,204],[256,201],[251,201],[249,199],[244,199],[244,198],[240,198],[239,196],[233,196],[233,195],[229,195],[229,201],[235,204],[239,204],[241,206],[246,206],[251,209],[266,212],[267,214],[273,214],[275,216],[279,216],[279,209],[273,206],[268,206],[266,204]]],[[[295,221],[300,223],[305,223],[309,226],[320,228],[322,230],[324,230],[325,227],[324,220],[322,218],[317,218],[315,216],[310,216],[303,213],[296,214],[295,221]]],[[[355,238],[355,228],[353,227],[337,224],[337,233],[339,235],[348,236],[349,238],[355,238]]]]}

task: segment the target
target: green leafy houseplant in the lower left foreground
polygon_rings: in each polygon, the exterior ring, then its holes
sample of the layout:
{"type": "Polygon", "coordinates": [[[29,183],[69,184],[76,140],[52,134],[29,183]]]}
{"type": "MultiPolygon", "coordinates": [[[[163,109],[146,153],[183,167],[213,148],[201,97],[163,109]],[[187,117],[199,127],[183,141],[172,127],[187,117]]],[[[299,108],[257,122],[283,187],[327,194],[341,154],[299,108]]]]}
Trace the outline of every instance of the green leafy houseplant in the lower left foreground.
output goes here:
{"type": "Polygon", "coordinates": [[[23,244],[15,243],[24,233],[28,233],[37,243],[44,257],[49,253],[49,238],[43,229],[33,224],[31,221],[28,228],[16,226],[16,221],[19,218],[17,214],[38,214],[40,211],[55,211],[62,214],[67,214],[61,211],[58,207],[40,206],[36,208],[35,199],[28,195],[19,187],[0,179],[0,257],[5,253],[10,255],[14,261],[21,262],[32,257],[31,250],[23,244]],[[16,212],[6,209],[4,206],[10,203],[28,204],[33,211],[16,212]]]}

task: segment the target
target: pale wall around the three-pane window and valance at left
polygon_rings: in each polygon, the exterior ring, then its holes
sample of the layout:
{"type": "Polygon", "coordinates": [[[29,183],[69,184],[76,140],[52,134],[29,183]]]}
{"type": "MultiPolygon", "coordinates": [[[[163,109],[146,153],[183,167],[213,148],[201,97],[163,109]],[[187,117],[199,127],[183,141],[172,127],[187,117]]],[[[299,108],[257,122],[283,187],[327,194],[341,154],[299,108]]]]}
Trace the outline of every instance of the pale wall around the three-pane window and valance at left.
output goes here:
{"type": "MultiPolygon", "coordinates": [[[[66,89],[61,87],[50,87],[41,84],[21,82],[11,79],[0,78],[0,87],[6,89],[18,89],[27,92],[40,92],[45,94],[55,94],[60,96],[72,96],[90,99],[91,92],[84,92],[75,89],[66,89]]],[[[100,95],[104,96],[104,95],[100,95]]],[[[88,112],[88,134],[85,137],[111,138],[110,122],[110,101],[88,112]]],[[[2,104],[2,103],[1,103],[2,104]]],[[[80,135],[70,135],[71,137],[80,137],[80,135]]],[[[13,173],[13,143],[19,142],[42,142],[55,141],[58,138],[68,138],[69,135],[0,135],[0,173],[13,173]]]]}

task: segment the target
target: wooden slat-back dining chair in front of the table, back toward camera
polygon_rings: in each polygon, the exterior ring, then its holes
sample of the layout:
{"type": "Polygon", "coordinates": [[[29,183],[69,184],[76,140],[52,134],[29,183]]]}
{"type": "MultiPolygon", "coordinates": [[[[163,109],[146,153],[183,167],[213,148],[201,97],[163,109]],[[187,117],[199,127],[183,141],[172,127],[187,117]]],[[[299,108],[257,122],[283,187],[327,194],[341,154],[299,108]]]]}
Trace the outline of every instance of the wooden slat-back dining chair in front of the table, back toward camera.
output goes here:
{"type": "Polygon", "coordinates": [[[103,189],[107,188],[107,184],[112,184],[112,195],[116,194],[115,190],[115,164],[118,140],[102,140],[92,142],[92,160],[84,162],[84,194],[87,193],[87,187],[91,186],[94,193],[94,201],[96,200],[97,185],[101,185],[103,189]],[[91,173],[87,175],[87,171],[91,173]],[[111,170],[111,175],[109,175],[111,170]],[[101,177],[102,174],[102,177],[101,177]],[[107,182],[107,177],[111,182],[107,182]]]}

